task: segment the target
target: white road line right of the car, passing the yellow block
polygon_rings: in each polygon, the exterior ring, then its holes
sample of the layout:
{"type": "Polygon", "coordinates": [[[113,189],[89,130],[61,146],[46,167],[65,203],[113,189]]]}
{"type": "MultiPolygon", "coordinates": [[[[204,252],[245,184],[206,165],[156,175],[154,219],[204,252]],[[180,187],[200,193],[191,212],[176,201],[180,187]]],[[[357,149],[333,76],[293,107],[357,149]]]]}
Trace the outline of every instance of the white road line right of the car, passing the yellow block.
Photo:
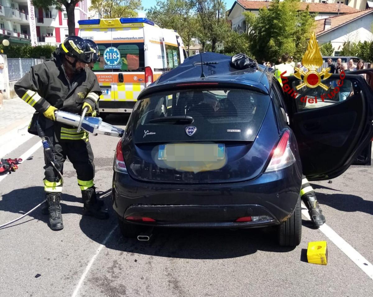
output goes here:
{"type": "MultiPolygon", "coordinates": [[[[302,202],[302,214],[307,218],[307,220],[311,220],[310,215],[308,214],[308,210],[302,202]]],[[[343,253],[349,257],[352,262],[354,262],[361,270],[363,270],[367,276],[373,279],[373,265],[369,263],[367,259],[365,259],[361,254],[351,247],[347,241],[345,241],[341,236],[339,236],[335,231],[330,228],[328,225],[324,224],[319,227],[319,230],[325,234],[327,238],[329,238],[343,253]]]]}

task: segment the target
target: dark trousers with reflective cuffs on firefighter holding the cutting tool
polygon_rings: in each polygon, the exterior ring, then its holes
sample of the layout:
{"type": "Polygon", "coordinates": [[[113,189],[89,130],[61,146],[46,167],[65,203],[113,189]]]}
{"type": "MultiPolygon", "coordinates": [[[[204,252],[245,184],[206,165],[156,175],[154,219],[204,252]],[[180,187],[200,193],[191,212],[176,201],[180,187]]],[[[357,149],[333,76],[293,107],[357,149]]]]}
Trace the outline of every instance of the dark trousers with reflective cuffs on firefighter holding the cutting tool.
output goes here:
{"type": "MultiPolygon", "coordinates": [[[[60,134],[58,132],[54,133],[53,127],[48,130],[46,135],[49,138],[49,144],[53,150],[55,158],[54,164],[57,169],[63,174],[63,164],[66,158],[68,158],[76,171],[80,189],[83,191],[93,187],[95,166],[93,163],[93,151],[88,141],[88,136],[85,139],[61,140],[60,134]]],[[[44,161],[44,190],[48,193],[62,192],[62,180],[57,170],[54,169],[49,162],[46,154],[44,154],[44,161]]]]}

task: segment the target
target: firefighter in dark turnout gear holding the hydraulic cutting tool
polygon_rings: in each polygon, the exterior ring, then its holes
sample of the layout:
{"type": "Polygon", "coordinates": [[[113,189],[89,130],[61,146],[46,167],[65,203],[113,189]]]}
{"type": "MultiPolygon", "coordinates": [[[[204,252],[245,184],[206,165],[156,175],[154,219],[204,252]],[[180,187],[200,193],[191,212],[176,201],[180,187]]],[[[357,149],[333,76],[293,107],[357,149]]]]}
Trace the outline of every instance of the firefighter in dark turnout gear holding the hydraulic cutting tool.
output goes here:
{"type": "MultiPolygon", "coordinates": [[[[87,114],[92,114],[97,108],[101,89],[94,73],[86,67],[93,54],[94,50],[82,38],[68,37],[53,53],[51,61],[31,67],[14,89],[22,100],[36,109],[29,132],[37,134],[34,126],[40,125],[53,149],[56,168],[62,174],[66,158],[73,164],[82,192],[84,214],[107,219],[109,214],[104,202],[97,198],[93,183],[95,167],[88,133],[76,132],[75,127],[56,122],[54,115],[57,109],[79,114],[87,107],[87,114]]],[[[62,180],[46,155],[44,159],[47,204],[42,211],[49,213],[50,228],[61,230],[62,180]]]]}

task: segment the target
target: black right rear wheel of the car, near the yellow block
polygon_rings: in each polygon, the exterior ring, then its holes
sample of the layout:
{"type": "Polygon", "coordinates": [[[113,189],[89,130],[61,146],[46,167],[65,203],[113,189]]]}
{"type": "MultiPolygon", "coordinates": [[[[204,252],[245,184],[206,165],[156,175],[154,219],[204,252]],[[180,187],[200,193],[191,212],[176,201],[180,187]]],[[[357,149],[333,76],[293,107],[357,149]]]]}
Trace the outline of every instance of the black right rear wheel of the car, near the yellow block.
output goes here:
{"type": "Polygon", "coordinates": [[[298,198],[294,213],[278,226],[278,240],[282,247],[296,247],[302,238],[301,199],[298,198]]]}

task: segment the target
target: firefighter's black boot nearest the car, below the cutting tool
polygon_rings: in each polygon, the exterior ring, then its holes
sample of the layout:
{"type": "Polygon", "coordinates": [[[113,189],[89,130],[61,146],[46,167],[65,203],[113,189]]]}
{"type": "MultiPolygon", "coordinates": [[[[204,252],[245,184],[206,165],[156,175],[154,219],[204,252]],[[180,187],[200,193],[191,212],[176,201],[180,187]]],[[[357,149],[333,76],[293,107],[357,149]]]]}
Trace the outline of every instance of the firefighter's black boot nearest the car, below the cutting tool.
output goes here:
{"type": "Polygon", "coordinates": [[[109,213],[105,209],[104,201],[97,198],[95,187],[82,191],[84,203],[84,215],[97,219],[109,219],[109,213]]]}

